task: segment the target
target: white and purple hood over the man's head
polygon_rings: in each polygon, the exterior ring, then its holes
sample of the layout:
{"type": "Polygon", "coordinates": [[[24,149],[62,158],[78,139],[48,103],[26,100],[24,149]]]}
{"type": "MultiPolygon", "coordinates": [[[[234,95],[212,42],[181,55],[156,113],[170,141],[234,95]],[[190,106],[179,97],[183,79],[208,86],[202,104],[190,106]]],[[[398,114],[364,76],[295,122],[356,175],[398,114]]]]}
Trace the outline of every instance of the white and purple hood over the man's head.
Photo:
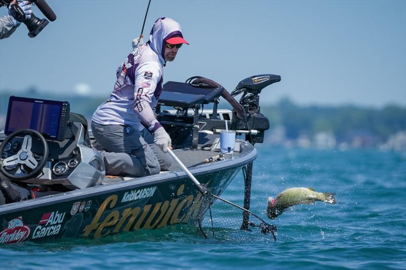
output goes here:
{"type": "MultiPolygon", "coordinates": [[[[154,26],[152,26],[148,44],[158,55],[159,61],[162,65],[165,63],[165,43],[175,35],[183,38],[181,25],[171,18],[159,18],[155,21],[154,26]]],[[[187,42],[185,41],[181,43],[187,42]]]]}

